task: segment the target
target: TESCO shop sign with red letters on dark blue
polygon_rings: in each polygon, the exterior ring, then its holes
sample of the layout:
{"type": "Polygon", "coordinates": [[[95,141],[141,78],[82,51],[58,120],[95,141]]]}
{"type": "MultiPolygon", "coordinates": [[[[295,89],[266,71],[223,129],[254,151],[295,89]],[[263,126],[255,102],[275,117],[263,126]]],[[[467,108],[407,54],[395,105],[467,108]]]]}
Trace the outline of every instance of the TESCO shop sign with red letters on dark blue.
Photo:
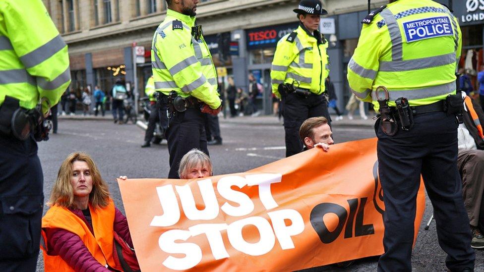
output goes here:
{"type": "Polygon", "coordinates": [[[286,34],[298,28],[298,23],[266,26],[245,31],[247,50],[275,48],[277,42],[286,34]]]}

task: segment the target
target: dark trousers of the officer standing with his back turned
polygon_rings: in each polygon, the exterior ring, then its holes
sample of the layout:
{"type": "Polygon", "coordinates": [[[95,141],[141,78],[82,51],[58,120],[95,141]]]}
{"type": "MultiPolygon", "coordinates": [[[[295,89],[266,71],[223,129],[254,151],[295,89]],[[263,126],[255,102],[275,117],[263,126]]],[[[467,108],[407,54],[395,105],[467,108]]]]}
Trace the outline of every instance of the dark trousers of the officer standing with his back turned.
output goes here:
{"type": "Polygon", "coordinates": [[[451,271],[474,268],[471,233],[457,170],[457,123],[454,115],[430,112],[414,117],[410,131],[399,128],[393,137],[375,124],[378,172],[383,188],[385,253],[378,271],[411,268],[416,198],[420,175],[433,206],[440,247],[451,271]]]}

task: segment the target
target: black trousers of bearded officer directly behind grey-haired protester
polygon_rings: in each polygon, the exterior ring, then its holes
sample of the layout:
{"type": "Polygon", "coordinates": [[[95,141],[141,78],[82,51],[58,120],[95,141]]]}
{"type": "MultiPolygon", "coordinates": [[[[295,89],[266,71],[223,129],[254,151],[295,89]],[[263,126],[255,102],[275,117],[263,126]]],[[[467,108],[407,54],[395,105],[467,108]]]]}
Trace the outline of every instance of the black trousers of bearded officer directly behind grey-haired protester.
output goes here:
{"type": "MultiPolygon", "coordinates": [[[[166,114],[165,107],[160,107],[160,114],[166,114]]],[[[170,153],[168,178],[180,178],[178,175],[180,161],[193,148],[208,155],[205,117],[205,113],[202,113],[200,109],[189,108],[183,112],[177,112],[170,118],[170,125],[166,130],[168,152],[170,153]]],[[[163,121],[161,123],[163,127],[163,121]]]]}

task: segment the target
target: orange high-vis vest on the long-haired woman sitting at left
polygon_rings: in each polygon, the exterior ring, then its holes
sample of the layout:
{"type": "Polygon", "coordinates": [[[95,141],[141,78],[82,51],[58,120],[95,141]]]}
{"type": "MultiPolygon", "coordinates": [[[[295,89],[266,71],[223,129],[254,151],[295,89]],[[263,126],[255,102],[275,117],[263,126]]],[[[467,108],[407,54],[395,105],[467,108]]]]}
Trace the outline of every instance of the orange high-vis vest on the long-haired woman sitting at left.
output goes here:
{"type": "MultiPolygon", "coordinates": [[[[62,228],[70,231],[81,238],[92,256],[103,266],[108,264],[110,267],[121,270],[115,265],[113,259],[113,239],[114,239],[114,218],[115,206],[113,200],[105,208],[94,209],[89,203],[91,212],[92,227],[94,235],[89,230],[87,224],[67,208],[57,205],[52,206],[47,214],[42,218],[42,229],[62,228]]],[[[45,239],[45,233],[43,231],[45,239]]],[[[45,241],[44,247],[48,245],[45,241]]],[[[60,256],[49,255],[50,250],[41,246],[44,254],[44,269],[46,272],[74,272],[74,270],[60,256]]]]}

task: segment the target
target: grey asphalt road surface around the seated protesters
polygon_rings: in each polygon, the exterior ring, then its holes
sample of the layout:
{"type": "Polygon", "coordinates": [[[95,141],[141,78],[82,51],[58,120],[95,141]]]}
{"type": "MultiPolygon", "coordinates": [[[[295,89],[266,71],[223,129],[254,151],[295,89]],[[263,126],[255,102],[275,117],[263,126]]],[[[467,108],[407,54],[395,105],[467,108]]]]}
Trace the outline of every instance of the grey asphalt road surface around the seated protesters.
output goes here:
{"type": "MultiPolygon", "coordinates": [[[[284,128],[282,125],[260,125],[221,122],[222,146],[209,147],[214,175],[243,172],[285,157],[284,128]]],[[[166,177],[168,175],[168,149],[166,142],[140,148],[144,131],[132,124],[118,125],[111,121],[60,120],[59,133],[39,145],[39,157],[44,172],[46,200],[57,177],[59,166],[71,152],[90,154],[101,175],[108,182],[116,206],[124,213],[121,195],[116,182],[120,175],[130,178],[166,177]]],[[[333,127],[335,143],[374,137],[369,126],[333,127]]],[[[424,220],[412,255],[413,271],[446,271],[445,253],[440,249],[435,221],[429,230],[424,224],[432,214],[426,201],[424,220]]],[[[46,212],[46,208],[44,208],[46,212]]],[[[484,271],[483,251],[476,252],[476,270],[484,271]]],[[[37,271],[43,271],[40,254],[37,271]]],[[[346,269],[328,266],[311,271],[376,271],[377,258],[356,261],[346,269]]]]}

